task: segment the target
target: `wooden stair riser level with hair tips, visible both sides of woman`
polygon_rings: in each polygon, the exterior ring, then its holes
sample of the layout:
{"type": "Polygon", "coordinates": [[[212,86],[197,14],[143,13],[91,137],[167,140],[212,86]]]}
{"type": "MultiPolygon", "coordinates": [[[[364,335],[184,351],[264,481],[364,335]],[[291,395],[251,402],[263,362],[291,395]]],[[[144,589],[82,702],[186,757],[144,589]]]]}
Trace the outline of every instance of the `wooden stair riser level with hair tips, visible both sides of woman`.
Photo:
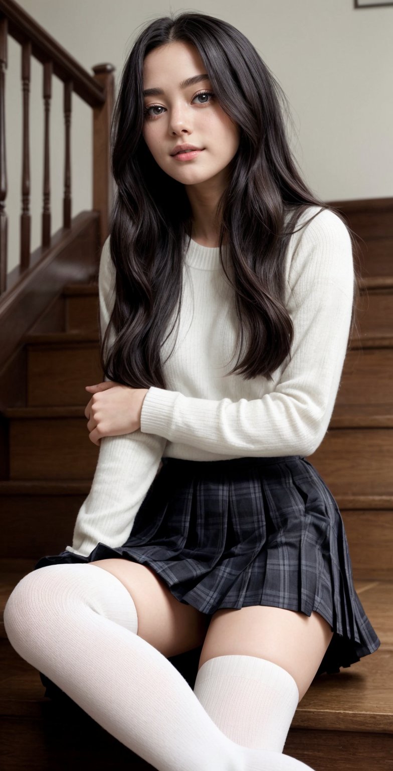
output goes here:
{"type": "MultiPolygon", "coordinates": [[[[337,404],[391,404],[393,348],[348,351],[337,404]]],[[[29,345],[27,406],[87,404],[85,385],[102,382],[98,343],[29,345]]]]}

